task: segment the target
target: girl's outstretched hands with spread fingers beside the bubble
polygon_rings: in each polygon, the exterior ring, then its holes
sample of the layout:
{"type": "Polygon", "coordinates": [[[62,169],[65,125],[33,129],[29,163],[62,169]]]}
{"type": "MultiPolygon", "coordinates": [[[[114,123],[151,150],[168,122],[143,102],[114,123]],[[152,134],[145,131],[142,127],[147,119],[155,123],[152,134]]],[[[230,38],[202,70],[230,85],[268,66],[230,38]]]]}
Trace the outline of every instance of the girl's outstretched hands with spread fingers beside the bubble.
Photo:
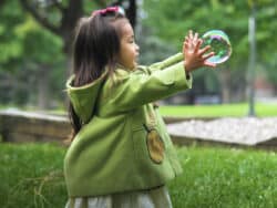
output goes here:
{"type": "Polygon", "coordinates": [[[207,61],[211,56],[214,55],[214,52],[205,54],[211,46],[207,45],[201,49],[203,40],[198,38],[198,33],[193,34],[191,30],[188,35],[186,35],[183,44],[183,54],[184,54],[184,66],[186,72],[192,72],[202,66],[215,67],[216,64],[207,61]]]}

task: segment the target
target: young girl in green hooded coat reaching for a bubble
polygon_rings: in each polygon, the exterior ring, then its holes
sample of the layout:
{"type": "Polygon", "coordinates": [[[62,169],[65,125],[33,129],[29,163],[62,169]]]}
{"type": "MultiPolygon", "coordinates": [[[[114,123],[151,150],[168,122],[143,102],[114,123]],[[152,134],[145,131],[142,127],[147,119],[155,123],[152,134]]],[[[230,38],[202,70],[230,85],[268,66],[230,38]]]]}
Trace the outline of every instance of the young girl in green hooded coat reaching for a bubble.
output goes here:
{"type": "Polygon", "coordinates": [[[191,89],[192,71],[215,66],[201,44],[189,32],[183,53],[137,66],[140,48],[117,7],[80,20],[66,82],[74,132],[64,159],[66,208],[172,207],[165,184],[182,168],[152,102],[191,89]]]}

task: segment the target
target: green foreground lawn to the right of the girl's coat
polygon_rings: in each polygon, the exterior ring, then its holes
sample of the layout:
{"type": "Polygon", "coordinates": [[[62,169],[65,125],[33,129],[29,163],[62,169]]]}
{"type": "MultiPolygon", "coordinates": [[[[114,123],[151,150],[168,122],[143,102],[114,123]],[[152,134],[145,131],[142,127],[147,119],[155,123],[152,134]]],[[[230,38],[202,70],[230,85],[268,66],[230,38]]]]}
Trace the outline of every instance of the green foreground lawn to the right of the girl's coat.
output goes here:
{"type": "Polygon", "coordinates": [[[277,155],[250,149],[182,148],[184,174],[170,184],[174,207],[277,207],[277,155]]]}

